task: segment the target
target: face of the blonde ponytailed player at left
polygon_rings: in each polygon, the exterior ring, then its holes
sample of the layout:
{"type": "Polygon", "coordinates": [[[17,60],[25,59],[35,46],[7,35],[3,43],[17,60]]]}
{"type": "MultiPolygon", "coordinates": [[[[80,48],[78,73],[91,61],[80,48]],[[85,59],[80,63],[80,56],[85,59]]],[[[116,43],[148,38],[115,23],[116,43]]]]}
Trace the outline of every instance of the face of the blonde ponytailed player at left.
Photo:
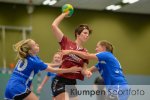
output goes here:
{"type": "Polygon", "coordinates": [[[29,45],[31,46],[30,53],[36,55],[39,52],[39,45],[33,40],[30,41],[29,45]]]}

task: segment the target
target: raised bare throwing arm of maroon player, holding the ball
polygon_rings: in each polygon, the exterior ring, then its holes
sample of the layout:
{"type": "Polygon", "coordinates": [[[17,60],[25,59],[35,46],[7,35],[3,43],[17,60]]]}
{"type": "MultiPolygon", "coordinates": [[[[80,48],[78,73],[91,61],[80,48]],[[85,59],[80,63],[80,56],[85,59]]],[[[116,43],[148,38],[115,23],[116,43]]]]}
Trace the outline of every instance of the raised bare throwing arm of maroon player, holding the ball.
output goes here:
{"type": "Polygon", "coordinates": [[[60,22],[68,15],[68,12],[60,14],[52,23],[52,31],[55,37],[57,38],[57,41],[60,42],[63,37],[63,32],[58,27],[60,22]]]}

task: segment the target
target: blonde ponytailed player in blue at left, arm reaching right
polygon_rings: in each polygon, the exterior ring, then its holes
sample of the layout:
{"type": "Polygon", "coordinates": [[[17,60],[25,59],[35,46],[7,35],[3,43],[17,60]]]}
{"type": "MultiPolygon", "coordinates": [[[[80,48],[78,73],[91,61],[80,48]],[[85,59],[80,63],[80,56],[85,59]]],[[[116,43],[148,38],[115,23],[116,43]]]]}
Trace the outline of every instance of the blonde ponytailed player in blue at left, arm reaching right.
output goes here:
{"type": "Polygon", "coordinates": [[[56,69],[44,63],[37,56],[39,45],[32,39],[16,43],[14,50],[17,52],[19,60],[7,83],[5,100],[38,100],[38,97],[31,92],[30,86],[32,79],[39,71],[45,70],[53,73],[81,71],[81,68],[76,66],[68,69],[56,69]]]}

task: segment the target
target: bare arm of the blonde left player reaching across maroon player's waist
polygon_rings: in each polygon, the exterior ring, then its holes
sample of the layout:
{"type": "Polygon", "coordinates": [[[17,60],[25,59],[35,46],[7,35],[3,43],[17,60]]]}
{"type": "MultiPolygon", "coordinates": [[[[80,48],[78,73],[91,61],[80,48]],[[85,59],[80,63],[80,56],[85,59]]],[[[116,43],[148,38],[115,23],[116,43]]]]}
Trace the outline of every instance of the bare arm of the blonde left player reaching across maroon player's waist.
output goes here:
{"type": "Polygon", "coordinates": [[[62,68],[52,68],[51,66],[48,66],[46,71],[48,72],[52,72],[52,73],[78,73],[79,71],[81,71],[82,68],[74,66],[71,68],[67,68],[67,69],[62,69],[62,68]]]}

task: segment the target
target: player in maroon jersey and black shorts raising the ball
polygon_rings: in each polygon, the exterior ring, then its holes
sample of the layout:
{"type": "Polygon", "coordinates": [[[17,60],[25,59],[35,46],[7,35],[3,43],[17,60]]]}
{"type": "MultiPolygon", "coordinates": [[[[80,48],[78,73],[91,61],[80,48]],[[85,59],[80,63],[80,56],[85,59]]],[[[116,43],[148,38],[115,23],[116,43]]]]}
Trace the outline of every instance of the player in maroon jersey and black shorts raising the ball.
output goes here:
{"type": "MultiPolygon", "coordinates": [[[[75,29],[75,41],[70,40],[68,37],[64,35],[64,33],[58,27],[60,22],[67,17],[68,12],[60,14],[52,23],[52,31],[57,41],[59,42],[62,50],[78,50],[87,52],[87,50],[83,47],[83,44],[88,40],[89,35],[92,30],[86,24],[79,25],[75,29]]],[[[82,67],[83,70],[79,73],[66,73],[66,74],[58,74],[56,78],[52,82],[52,93],[55,96],[56,100],[67,100],[69,95],[65,91],[65,85],[75,85],[76,79],[83,80],[84,76],[91,74],[86,69],[88,64],[87,59],[80,58],[77,55],[70,54],[64,55],[62,58],[63,62],[60,68],[70,68],[72,66],[77,65],[78,67],[82,67]],[[68,67],[69,66],[69,67],[68,67]]],[[[74,96],[72,99],[76,99],[74,96]]]]}

